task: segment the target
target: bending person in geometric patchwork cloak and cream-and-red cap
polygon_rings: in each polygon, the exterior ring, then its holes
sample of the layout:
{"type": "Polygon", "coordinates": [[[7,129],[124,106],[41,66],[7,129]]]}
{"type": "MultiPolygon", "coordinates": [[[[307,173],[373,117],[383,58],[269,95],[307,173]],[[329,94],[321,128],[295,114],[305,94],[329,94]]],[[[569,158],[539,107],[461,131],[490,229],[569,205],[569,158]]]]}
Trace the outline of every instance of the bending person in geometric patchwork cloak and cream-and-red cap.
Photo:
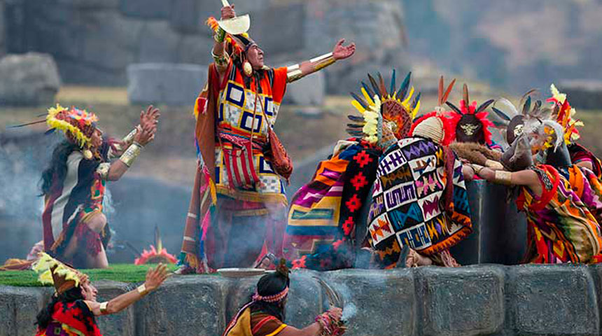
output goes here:
{"type": "Polygon", "coordinates": [[[458,265],[449,248],[472,232],[472,223],[465,169],[448,146],[452,132],[437,106],[381,155],[368,215],[374,267],[458,265]]]}

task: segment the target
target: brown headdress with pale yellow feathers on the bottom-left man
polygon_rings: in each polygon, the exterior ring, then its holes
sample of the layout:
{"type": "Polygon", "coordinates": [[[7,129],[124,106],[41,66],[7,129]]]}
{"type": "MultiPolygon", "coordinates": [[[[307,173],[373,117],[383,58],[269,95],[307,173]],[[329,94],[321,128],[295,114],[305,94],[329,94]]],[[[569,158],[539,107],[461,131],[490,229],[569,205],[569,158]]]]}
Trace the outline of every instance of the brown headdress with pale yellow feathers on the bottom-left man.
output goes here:
{"type": "Polygon", "coordinates": [[[57,295],[60,295],[67,290],[80,286],[80,283],[88,281],[87,275],[78,272],[67,265],[64,265],[59,260],[52,258],[50,255],[41,252],[39,259],[31,265],[39,274],[38,281],[44,284],[52,284],[55,286],[57,295]]]}

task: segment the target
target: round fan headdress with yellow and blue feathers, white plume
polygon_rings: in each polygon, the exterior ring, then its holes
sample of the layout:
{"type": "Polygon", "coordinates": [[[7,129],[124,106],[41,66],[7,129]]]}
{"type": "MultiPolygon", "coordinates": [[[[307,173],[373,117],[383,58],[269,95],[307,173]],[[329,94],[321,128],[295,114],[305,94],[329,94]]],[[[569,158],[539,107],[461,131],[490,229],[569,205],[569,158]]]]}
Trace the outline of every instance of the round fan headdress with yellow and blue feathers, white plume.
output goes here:
{"type": "Polygon", "coordinates": [[[360,137],[370,144],[377,144],[387,138],[389,131],[394,139],[407,137],[412,120],[420,109],[420,94],[412,100],[414,87],[409,86],[412,73],[407,73],[399,90],[395,83],[395,70],[391,75],[391,83],[387,90],[384,79],[378,73],[378,81],[368,73],[370,86],[361,82],[360,95],[351,92],[351,104],[361,116],[349,116],[353,121],[348,124],[347,132],[353,137],[360,137]]]}

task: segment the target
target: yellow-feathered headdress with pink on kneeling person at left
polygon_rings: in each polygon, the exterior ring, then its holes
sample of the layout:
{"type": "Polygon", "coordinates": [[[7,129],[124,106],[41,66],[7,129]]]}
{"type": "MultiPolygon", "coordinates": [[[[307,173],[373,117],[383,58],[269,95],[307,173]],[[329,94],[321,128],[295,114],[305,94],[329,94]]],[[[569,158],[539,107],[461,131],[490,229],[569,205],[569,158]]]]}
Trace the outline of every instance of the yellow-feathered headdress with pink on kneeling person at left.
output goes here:
{"type": "Polygon", "coordinates": [[[94,113],[75,107],[66,109],[59,104],[48,109],[46,116],[49,132],[54,130],[64,132],[67,139],[80,148],[90,147],[92,141],[90,138],[94,134],[97,121],[98,117],[94,113]]]}

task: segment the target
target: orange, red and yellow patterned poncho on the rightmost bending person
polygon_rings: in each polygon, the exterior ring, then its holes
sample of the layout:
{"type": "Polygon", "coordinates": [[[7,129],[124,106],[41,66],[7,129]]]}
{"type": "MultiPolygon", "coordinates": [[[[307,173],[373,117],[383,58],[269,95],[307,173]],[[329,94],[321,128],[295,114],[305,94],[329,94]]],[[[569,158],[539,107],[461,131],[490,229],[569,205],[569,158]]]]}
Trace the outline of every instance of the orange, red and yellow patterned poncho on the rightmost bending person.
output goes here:
{"type": "Polygon", "coordinates": [[[517,207],[525,211],[527,219],[528,261],[594,261],[602,238],[596,218],[582,200],[590,204],[599,200],[592,195],[587,178],[580,169],[567,169],[569,179],[549,165],[538,165],[534,170],[540,177],[542,195],[537,197],[520,187],[517,198],[517,207]]]}

